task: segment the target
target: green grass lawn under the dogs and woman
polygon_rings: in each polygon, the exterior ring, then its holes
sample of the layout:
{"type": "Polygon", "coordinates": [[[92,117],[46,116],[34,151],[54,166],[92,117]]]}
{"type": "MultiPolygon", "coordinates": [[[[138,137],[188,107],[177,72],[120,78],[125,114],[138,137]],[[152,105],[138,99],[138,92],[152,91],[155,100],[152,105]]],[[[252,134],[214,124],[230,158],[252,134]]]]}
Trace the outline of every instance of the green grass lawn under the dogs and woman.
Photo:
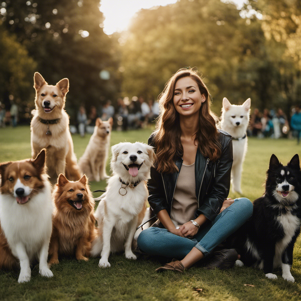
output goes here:
{"type": "MultiPolygon", "coordinates": [[[[121,141],[147,142],[152,129],[113,132],[111,145],[121,141]]],[[[88,144],[85,138],[73,135],[74,149],[79,158],[88,144]]],[[[249,139],[248,152],[242,175],[243,196],[255,200],[264,192],[262,186],[271,154],[287,163],[300,153],[296,140],[249,139]]],[[[0,129],[0,162],[30,157],[29,126],[0,129]]],[[[107,172],[110,174],[109,166],[107,172]]],[[[91,188],[104,189],[105,181],[92,182],[91,188]]],[[[95,194],[98,196],[100,194],[95,194]]],[[[230,197],[239,194],[230,192],[230,197]]],[[[160,263],[154,259],[125,259],[111,255],[111,267],[100,269],[99,259],[77,262],[61,259],[51,268],[53,278],[39,275],[38,265],[33,267],[29,283],[18,284],[19,272],[0,271],[0,300],[300,300],[301,299],[301,240],[294,249],[292,275],[295,283],[288,283],[276,271],[277,280],[265,278],[262,271],[253,268],[232,268],[228,271],[207,271],[199,267],[189,269],[184,275],[154,270],[160,263]],[[246,286],[251,284],[252,286],[246,286]],[[201,289],[201,290],[200,290],[201,289]]]]}

